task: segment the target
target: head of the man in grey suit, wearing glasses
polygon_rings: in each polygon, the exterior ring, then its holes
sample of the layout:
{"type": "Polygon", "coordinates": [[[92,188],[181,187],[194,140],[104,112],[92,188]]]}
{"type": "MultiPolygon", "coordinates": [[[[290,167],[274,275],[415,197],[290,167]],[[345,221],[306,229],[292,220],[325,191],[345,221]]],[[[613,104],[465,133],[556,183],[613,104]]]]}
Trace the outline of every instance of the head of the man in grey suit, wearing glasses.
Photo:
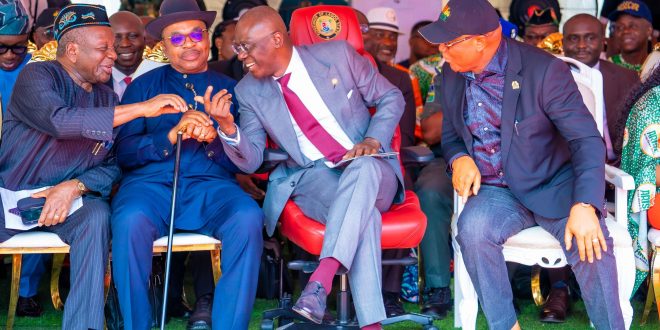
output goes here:
{"type": "Polygon", "coordinates": [[[238,20],[234,47],[243,66],[258,79],[286,71],[293,44],[282,17],[268,6],[254,7],[238,20]]]}

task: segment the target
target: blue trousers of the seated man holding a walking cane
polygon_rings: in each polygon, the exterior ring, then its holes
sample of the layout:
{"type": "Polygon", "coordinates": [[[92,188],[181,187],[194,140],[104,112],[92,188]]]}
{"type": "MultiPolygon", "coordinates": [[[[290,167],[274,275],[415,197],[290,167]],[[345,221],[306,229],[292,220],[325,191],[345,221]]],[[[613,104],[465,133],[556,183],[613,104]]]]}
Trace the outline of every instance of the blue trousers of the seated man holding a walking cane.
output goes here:
{"type": "MultiPolygon", "coordinates": [[[[125,329],[144,330],[151,326],[147,289],[153,241],[167,235],[171,188],[134,188],[122,186],[112,202],[113,276],[125,329]]],[[[188,231],[222,241],[222,276],[215,288],[213,329],[247,329],[263,248],[263,213],[234,183],[218,182],[211,189],[215,198],[208,198],[206,191],[201,205],[177,205],[175,227],[185,223],[187,209],[205,208],[201,212],[207,215],[203,227],[188,231]]]]}

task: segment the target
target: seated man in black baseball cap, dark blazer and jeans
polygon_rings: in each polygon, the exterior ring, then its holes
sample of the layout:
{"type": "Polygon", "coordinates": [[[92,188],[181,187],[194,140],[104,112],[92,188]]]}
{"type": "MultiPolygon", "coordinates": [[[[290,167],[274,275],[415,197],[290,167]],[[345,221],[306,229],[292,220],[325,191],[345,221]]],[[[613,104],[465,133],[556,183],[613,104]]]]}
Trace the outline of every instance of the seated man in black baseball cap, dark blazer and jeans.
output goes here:
{"type": "Polygon", "coordinates": [[[436,100],[443,157],[466,201],[456,239],[490,328],[519,328],[502,244],[539,225],[566,250],[594,326],[623,329],[601,213],[605,145],[568,66],[502,39],[486,0],[450,0],[420,32],[446,60],[436,100]]]}

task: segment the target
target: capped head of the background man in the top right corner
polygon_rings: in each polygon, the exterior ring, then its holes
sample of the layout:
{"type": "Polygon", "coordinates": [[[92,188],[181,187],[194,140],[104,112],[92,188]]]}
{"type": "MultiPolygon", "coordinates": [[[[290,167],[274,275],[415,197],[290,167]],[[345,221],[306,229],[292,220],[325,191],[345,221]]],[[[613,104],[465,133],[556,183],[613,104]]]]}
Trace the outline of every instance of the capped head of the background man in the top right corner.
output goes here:
{"type": "Polygon", "coordinates": [[[609,18],[614,22],[614,42],[621,49],[621,53],[610,60],[640,72],[649,55],[648,45],[653,33],[651,10],[642,1],[626,0],[616,7],[609,18]]]}

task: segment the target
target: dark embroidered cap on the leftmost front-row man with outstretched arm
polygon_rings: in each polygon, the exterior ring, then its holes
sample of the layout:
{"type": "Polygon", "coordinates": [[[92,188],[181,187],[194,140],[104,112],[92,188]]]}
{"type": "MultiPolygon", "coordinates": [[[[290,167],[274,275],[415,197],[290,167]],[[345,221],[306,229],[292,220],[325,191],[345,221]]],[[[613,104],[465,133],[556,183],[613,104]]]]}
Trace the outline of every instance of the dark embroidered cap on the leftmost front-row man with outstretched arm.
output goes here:
{"type": "Polygon", "coordinates": [[[55,18],[53,31],[55,40],[60,41],[67,32],[80,27],[107,26],[110,27],[108,14],[101,5],[73,4],[65,6],[55,18]]]}

